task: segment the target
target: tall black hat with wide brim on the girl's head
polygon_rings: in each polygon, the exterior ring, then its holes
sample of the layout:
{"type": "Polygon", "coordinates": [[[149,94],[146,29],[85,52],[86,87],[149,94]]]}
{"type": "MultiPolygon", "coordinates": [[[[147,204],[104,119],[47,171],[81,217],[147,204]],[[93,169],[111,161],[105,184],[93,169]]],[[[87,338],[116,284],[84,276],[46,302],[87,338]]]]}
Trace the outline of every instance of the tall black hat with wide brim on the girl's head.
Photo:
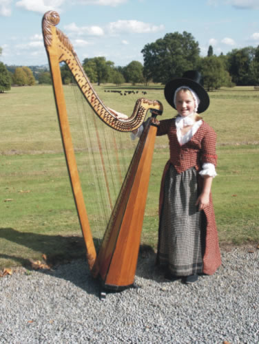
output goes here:
{"type": "Polygon", "coordinates": [[[183,74],[182,78],[175,78],[165,85],[165,99],[167,100],[169,105],[176,109],[176,106],[174,105],[174,94],[176,92],[176,89],[182,86],[187,86],[190,89],[193,89],[200,99],[200,104],[198,105],[197,110],[198,114],[200,114],[209,107],[209,95],[203,88],[202,81],[203,77],[200,72],[196,70],[188,70],[183,74]]]}

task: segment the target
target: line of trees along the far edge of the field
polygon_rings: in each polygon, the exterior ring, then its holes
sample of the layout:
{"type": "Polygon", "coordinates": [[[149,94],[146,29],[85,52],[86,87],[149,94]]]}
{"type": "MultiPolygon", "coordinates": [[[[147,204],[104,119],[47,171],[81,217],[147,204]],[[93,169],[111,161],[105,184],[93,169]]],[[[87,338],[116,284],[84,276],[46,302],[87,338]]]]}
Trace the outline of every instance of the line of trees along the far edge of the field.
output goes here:
{"type": "MultiPolygon", "coordinates": [[[[200,56],[198,41],[188,33],[165,34],[161,39],[148,43],[141,51],[144,63],[132,61],[125,67],[115,66],[105,57],[85,58],[83,69],[91,83],[161,83],[180,77],[187,69],[198,69],[208,90],[234,85],[259,85],[259,45],[231,50],[216,56],[210,45],[207,56],[200,56]]],[[[1,50],[0,50],[1,54],[1,50]]],[[[0,63],[0,92],[10,85],[34,85],[52,83],[50,72],[33,67],[5,66],[0,63]],[[6,69],[6,70],[5,70],[6,69]],[[13,69],[13,70],[12,70],[13,69]]],[[[64,84],[72,83],[72,74],[67,65],[61,66],[64,84]]],[[[10,89],[10,88],[9,88],[10,89]]]]}

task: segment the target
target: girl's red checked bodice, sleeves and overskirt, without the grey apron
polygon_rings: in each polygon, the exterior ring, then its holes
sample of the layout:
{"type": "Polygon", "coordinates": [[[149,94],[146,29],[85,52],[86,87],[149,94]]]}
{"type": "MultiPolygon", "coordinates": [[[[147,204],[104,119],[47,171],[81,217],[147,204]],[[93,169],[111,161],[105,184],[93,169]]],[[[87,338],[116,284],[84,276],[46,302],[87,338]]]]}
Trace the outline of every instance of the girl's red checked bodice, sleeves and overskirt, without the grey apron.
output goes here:
{"type": "MultiPolygon", "coordinates": [[[[176,136],[175,118],[170,120],[161,120],[158,127],[158,136],[167,134],[169,138],[170,159],[165,165],[163,178],[160,187],[160,215],[163,208],[165,176],[169,166],[173,165],[178,174],[195,168],[196,171],[201,170],[201,166],[205,162],[209,162],[216,166],[216,133],[203,121],[199,129],[189,142],[182,146],[178,142],[176,136]]],[[[198,189],[201,191],[203,186],[203,178],[198,177],[198,189]]],[[[220,248],[218,245],[218,233],[216,229],[216,220],[214,215],[214,207],[211,194],[209,196],[209,205],[205,208],[206,217],[206,234],[205,234],[205,252],[203,254],[203,272],[212,275],[221,264],[220,248]]],[[[160,233],[159,233],[160,236],[160,233]]],[[[159,255],[159,239],[158,239],[158,255],[159,255]]],[[[158,259],[159,260],[159,259],[158,259]]]]}

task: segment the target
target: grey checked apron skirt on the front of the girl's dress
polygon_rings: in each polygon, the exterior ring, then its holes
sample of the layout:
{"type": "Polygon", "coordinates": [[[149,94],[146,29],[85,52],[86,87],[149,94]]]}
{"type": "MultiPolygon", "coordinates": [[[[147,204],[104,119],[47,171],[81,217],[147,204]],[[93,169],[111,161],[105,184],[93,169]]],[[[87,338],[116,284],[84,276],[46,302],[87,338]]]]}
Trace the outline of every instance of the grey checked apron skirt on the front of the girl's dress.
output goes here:
{"type": "Polygon", "coordinates": [[[198,172],[194,167],[177,173],[169,166],[160,215],[158,262],[176,276],[203,272],[206,219],[198,211],[198,172]]]}

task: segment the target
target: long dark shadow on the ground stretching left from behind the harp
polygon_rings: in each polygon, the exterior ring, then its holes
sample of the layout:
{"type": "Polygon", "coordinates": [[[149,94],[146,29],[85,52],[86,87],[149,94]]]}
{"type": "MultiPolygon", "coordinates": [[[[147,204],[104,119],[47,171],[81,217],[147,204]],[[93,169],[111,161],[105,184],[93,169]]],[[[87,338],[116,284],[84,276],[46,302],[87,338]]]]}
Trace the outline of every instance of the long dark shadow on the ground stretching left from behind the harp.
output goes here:
{"type": "MultiPolygon", "coordinates": [[[[23,233],[14,228],[0,228],[0,238],[44,253],[47,257],[47,264],[52,265],[53,268],[51,270],[38,270],[39,272],[68,280],[88,294],[99,296],[100,283],[97,279],[92,278],[88,268],[83,237],[23,233]]],[[[95,245],[97,242],[99,243],[98,239],[94,239],[94,241],[95,245]]],[[[136,270],[138,277],[158,278],[154,268],[155,257],[155,252],[151,246],[141,245],[136,270]]],[[[12,259],[12,261],[17,261],[20,266],[32,270],[30,257],[24,258],[19,255],[0,253],[0,258],[12,259]]]]}

